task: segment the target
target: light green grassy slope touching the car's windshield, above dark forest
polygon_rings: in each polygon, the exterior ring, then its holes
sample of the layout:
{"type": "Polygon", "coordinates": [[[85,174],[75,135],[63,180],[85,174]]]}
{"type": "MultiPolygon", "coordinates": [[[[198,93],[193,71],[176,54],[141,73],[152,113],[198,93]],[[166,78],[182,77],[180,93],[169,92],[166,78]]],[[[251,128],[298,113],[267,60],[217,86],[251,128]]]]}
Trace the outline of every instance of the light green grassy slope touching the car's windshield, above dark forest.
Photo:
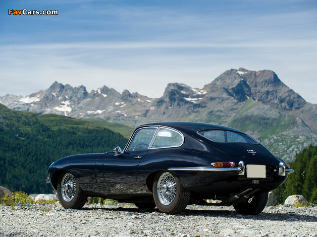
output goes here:
{"type": "Polygon", "coordinates": [[[89,122],[95,123],[97,125],[106,127],[108,129],[110,129],[111,131],[118,132],[127,139],[130,138],[130,136],[134,130],[134,128],[123,125],[121,123],[108,122],[104,118],[84,118],[82,120],[89,121],[89,122]]]}

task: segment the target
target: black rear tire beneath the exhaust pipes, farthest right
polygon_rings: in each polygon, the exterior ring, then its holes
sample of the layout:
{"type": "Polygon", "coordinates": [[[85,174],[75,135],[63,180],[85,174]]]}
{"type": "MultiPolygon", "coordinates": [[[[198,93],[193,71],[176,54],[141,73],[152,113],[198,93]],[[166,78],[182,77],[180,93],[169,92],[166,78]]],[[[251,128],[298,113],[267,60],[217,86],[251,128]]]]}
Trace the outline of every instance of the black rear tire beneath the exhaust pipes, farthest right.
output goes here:
{"type": "Polygon", "coordinates": [[[263,211],[267,198],[268,192],[259,192],[253,195],[253,197],[249,197],[243,202],[233,205],[233,207],[238,213],[243,215],[258,215],[263,211]]]}

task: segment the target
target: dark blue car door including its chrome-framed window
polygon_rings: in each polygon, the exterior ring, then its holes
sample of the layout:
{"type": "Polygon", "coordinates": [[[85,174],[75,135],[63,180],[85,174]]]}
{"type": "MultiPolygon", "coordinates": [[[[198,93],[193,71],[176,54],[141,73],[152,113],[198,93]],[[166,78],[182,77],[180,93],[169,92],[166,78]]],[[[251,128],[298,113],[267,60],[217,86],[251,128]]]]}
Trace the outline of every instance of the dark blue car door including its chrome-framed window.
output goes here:
{"type": "Polygon", "coordinates": [[[106,183],[137,182],[140,160],[146,156],[158,127],[144,127],[135,131],[122,155],[109,153],[104,163],[106,183]]]}

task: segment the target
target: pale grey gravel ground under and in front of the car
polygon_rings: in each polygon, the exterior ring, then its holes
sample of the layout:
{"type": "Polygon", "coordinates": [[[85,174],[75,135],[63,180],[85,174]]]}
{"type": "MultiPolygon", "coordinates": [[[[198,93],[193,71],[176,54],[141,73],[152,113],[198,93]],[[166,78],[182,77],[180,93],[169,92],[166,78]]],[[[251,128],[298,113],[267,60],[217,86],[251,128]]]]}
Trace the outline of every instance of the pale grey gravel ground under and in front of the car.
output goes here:
{"type": "Polygon", "coordinates": [[[0,205],[0,237],[317,237],[317,207],[265,207],[258,216],[232,206],[187,206],[179,215],[136,206],[0,205]]]}

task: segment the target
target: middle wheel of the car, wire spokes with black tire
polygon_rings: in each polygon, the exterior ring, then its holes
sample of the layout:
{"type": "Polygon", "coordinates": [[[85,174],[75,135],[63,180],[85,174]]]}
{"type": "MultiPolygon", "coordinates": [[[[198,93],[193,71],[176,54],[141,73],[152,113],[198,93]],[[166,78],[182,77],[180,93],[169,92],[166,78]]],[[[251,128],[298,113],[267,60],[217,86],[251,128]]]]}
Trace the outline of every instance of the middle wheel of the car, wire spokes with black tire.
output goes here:
{"type": "Polygon", "coordinates": [[[185,210],[190,192],[184,189],[180,179],[170,172],[158,172],[153,183],[153,197],[159,211],[176,214],[185,210]]]}

